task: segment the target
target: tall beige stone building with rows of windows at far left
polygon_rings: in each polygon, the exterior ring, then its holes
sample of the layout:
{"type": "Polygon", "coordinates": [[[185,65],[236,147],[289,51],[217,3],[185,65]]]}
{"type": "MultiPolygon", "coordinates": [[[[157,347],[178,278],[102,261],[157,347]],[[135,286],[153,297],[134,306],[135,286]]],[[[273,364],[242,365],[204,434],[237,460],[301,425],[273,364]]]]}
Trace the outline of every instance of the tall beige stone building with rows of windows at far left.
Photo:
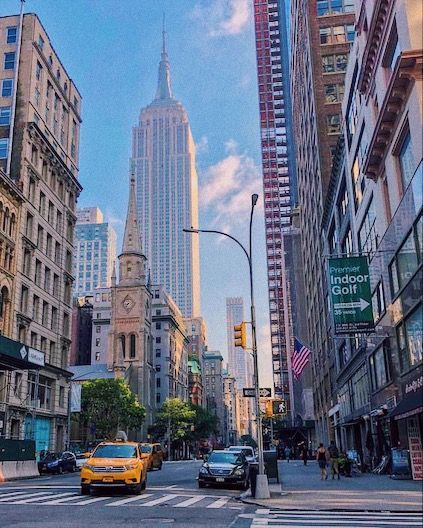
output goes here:
{"type": "Polygon", "coordinates": [[[36,15],[0,18],[0,35],[0,164],[25,197],[11,337],[45,354],[38,372],[13,375],[6,437],[57,450],[67,437],[81,96],[36,15]]]}

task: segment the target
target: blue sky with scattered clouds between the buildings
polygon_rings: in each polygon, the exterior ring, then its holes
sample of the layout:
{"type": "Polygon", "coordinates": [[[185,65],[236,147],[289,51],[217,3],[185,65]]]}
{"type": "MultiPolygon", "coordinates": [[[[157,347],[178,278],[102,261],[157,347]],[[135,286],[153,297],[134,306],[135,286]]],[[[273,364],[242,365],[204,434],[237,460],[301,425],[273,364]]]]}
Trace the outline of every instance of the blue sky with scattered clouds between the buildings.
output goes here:
{"type": "MultiPolygon", "coordinates": [[[[262,197],[250,0],[27,0],[83,96],[79,206],[98,206],[119,235],[125,218],[131,128],[154,97],[166,14],[175,96],[198,146],[200,225],[247,243],[250,195],[262,197]]],[[[19,11],[1,0],[0,15],[19,11]]],[[[271,381],[264,222],[254,232],[261,375],[271,381]]],[[[231,242],[200,239],[202,314],[209,348],[226,356],[227,296],[243,296],[247,264],[231,242]]]]}

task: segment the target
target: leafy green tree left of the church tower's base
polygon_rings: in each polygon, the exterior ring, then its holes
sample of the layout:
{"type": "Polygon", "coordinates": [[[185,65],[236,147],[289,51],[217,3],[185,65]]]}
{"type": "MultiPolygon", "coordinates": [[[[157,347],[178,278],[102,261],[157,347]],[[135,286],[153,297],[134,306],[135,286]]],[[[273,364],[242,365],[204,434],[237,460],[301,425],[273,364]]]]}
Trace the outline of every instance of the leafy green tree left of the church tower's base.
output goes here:
{"type": "Polygon", "coordinates": [[[97,438],[114,438],[117,431],[139,429],[145,408],[121,379],[96,379],[82,384],[81,418],[97,438]]]}

